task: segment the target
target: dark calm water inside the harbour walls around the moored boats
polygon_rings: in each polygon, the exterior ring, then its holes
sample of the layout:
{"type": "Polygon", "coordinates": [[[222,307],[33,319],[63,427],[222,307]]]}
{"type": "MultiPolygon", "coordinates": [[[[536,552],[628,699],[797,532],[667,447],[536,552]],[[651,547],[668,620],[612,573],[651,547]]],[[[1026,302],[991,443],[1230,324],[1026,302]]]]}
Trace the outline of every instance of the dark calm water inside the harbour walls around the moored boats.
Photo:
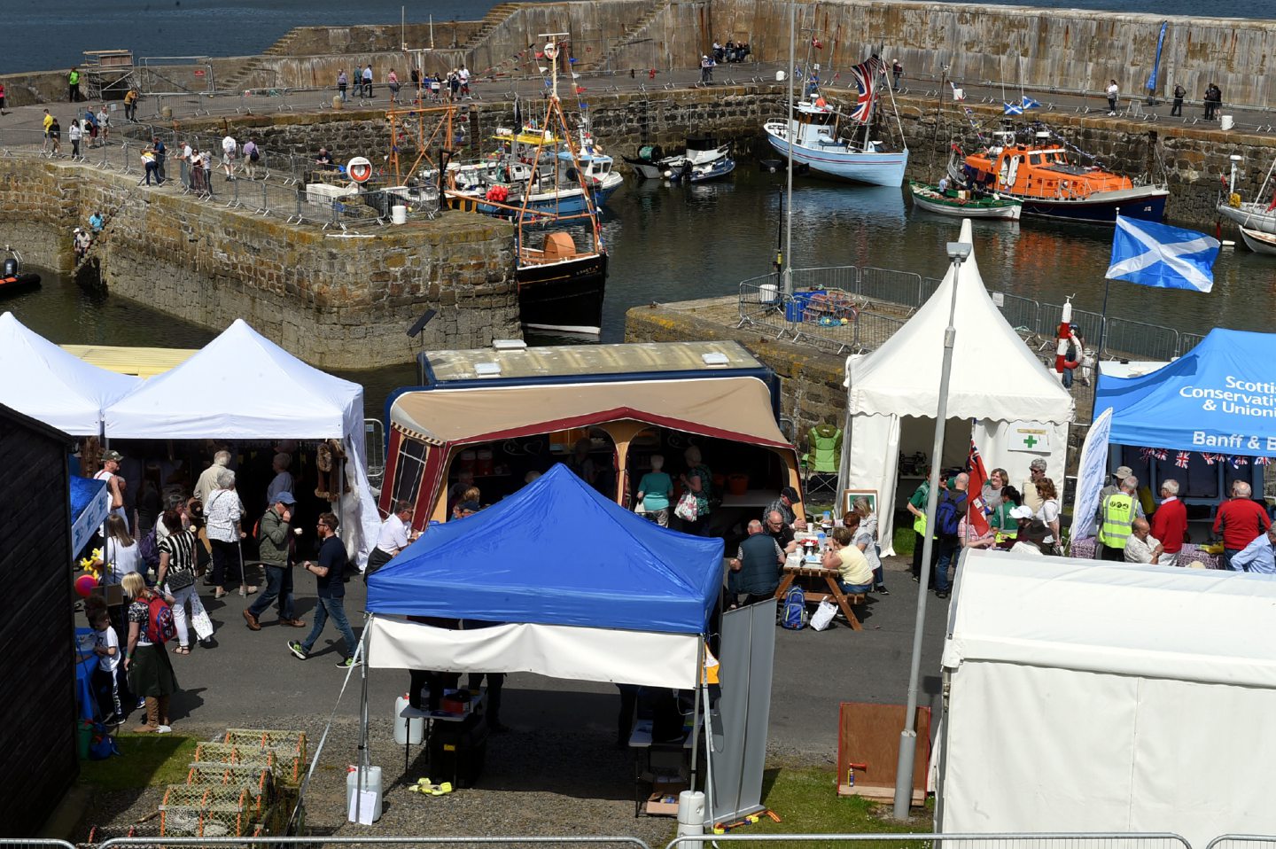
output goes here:
{"type": "MultiPolygon", "coordinates": [[[[741,157],[721,183],[679,186],[627,177],[607,204],[602,227],[611,253],[602,341],[621,341],[625,312],[633,306],[732,295],[741,280],[769,272],[782,222],[783,176],[741,157]]],[[[957,231],[957,220],[914,209],[898,189],[796,179],[795,268],[857,266],[942,277],[948,264],[944,245],[957,231]]],[[[1111,229],[975,222],[975,255],[986,286],[1042,303],[1073,296],[1077,308],[1099,312],[1110,253],[1111,229]]],[[[13,310],[55,342],[199,347],[214,334],[42,273],[41,289],[11,296],[0,309],[13,310]]],[[[1268,331],[1273,281],[1276,259],[1242,246],[1220,254],[1210,295],[1113,281],[1108,312],[1182,333],[1207,333],[1215,326],[1268,331]]],[[[995,364],[989,369],[995,374],[995,364]]],[[[369,415],[379,417],[392,389],[416,383],[416,369],[404,364],[343,377],[365,386],[369,415]]]]}

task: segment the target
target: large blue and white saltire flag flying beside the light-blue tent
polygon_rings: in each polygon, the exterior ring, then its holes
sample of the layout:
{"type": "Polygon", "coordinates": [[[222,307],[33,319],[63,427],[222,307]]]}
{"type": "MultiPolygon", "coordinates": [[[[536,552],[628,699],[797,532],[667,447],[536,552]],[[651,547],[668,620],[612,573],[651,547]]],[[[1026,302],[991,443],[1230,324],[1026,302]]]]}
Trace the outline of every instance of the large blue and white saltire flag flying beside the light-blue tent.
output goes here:
{"type": "Polygon", "coordinates": [[[1106,277],[1157,289],[1208,292],[1217,258],[1219,240],[1203,232],[1116,216],[1106,277]]]}

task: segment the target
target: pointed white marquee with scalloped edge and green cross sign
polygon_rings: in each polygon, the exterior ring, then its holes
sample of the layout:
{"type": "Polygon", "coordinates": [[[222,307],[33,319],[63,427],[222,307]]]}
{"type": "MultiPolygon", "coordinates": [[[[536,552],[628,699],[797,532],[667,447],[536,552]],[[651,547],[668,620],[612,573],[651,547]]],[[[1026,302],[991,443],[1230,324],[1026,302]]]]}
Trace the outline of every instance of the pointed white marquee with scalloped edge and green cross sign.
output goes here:
{"type": "MultiPolygon", "coordinates": [[[[962,222],[958,240],[974,244],[970,221],[962,222]]],[[[846,361],[847,438],[840,489],[877,492],[883,554],[892,553],[900,452],[929,455],[933,448],[953,286],[957,334],[948,392],[949,462],[954,451],[965,460],[974,435],[985,467],[1004,467],[1016,486],[1027,480],[1028,465],[1044,457],[1046,475],[1062,495],[1072,396],[993,304],[972,250],[961,266],[961,280],[953,280],[949,267],[935,294],[882,347],[846,361]],[[924,430],[916,420],[924,420],[924,430]],[[974,433],[953,420],[974,420],[974,433]],[[911,438],[901,443],[903,429],[911,438]],[[1025,444],[1025,434],[1031,444],[1025,444]]]]}

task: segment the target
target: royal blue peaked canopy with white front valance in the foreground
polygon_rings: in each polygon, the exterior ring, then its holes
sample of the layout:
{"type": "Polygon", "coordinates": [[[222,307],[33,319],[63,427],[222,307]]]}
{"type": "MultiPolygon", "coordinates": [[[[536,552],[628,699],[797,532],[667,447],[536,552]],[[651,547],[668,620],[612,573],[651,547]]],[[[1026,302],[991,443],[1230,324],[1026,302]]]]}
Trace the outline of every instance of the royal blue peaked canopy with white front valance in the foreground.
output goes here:
{"type": "Polygon", "coordinates": [[[693,688],[721,583],[722,540],[662,529],[556,465],[369,577],[367,664],[693,688]]]}

